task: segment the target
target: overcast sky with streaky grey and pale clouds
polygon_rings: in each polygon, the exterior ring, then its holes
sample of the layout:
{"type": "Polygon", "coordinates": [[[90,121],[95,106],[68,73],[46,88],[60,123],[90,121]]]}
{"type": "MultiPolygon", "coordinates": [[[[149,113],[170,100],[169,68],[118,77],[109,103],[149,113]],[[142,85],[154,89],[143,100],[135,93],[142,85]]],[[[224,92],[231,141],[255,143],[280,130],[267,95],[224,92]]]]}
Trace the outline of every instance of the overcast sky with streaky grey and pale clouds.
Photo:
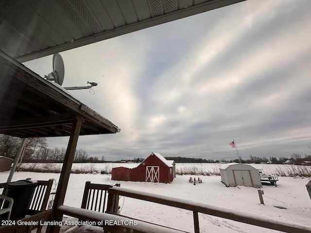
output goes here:
{"type": "MultiPolygon", "coordinates": [[[[311,154],[311,1],[248,0],[60,54],[63,86],[121,132],[81,136],[106,160],[311,154]]],[[[52,55],[24,63],[40,76],[52,55]]],[[[49,138],[67,148],[69,138],[49,138]]]]}

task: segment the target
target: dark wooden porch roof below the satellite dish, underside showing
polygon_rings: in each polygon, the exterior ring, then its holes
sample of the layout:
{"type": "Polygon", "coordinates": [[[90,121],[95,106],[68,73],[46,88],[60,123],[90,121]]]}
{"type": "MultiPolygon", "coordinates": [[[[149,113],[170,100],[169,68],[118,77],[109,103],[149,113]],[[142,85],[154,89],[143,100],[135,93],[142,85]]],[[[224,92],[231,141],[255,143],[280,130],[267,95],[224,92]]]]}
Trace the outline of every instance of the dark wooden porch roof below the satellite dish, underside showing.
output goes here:
{"type": "Polygon", "coordinates": [[[69,136],[84,117],[80,135],[117,133],[112,122],[0,51],[0,133],[20,138],[69,136]]]}

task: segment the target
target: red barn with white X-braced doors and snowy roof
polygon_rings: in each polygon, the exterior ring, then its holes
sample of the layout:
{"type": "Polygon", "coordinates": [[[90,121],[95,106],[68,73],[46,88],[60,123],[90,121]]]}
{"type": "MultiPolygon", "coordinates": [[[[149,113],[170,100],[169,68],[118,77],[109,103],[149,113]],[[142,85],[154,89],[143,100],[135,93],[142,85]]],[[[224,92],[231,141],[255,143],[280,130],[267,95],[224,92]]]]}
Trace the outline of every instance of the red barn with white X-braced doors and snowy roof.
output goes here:
{"type": "Polygon", "coordinates": [[[151,155],[134,168],[112,168],[111,180],[172,183],[175,178],[174,161],[166,160],[159,153],[151,155]]]}

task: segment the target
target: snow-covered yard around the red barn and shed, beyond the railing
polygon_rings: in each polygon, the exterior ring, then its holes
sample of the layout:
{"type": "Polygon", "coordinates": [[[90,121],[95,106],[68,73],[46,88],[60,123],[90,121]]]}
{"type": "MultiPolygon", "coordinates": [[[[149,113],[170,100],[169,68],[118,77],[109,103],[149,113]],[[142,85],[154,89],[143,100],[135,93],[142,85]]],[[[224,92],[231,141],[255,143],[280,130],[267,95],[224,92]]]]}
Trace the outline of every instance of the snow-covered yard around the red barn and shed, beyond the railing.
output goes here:
{"type": "MultiPolygon", "coordinates": [[[[0,182],[6,182],[8,175],[8,171],[0,172],[0,182]]],[[[53,178],[58,182],[59,174],[16,172],[12,181],[28,177],[33,180],[48,180],[53,178]]],[[[262,190],[264,191],[263,200],[265,205],[259,202],[257,188],[244,186],[225,187],[225,185],[221,183],[220,176],[203,176],[201,177],[203,183],[197,183],[197,185],[189,183],[188,178],[188,175],[177,176],[171,184],[144,182],[118,183],[121,183],[121,187],[125,188],[183,200],[194,200],[229,210],[311,227],[311,200],[305,187],[305,184],[309,181],[308,178],[279,177],[277,187],[273,185],[264,185],[262,190]],[[284,207],[286,209],[279,209],[275,206],[284,207]]],[[[111,181],[111,175],[106,174],[71,174],[65,205],[81,207],[86,181],[104,184],[117,183],[116,181],[111,181]]],[[[122,215],[140,218],[187,232],[194,232],[193,217],[190,211],[124,197],[120,198],[119,203],[122,215]]],[[[278,232],[203,214],[199,214],[199,224],[201,233],[278,232]]]]}

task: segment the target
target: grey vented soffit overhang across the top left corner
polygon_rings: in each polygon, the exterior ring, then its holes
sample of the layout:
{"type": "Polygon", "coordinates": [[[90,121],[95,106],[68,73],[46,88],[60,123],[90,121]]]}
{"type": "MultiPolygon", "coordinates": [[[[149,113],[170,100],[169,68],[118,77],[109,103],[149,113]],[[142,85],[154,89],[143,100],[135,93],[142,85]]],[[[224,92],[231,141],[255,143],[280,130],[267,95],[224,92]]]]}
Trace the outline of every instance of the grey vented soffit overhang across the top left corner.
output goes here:
{"type": "Polygon", "coordinates": [[[19,62],[243,0],[2,0],[0,50],[19,62]]]}

